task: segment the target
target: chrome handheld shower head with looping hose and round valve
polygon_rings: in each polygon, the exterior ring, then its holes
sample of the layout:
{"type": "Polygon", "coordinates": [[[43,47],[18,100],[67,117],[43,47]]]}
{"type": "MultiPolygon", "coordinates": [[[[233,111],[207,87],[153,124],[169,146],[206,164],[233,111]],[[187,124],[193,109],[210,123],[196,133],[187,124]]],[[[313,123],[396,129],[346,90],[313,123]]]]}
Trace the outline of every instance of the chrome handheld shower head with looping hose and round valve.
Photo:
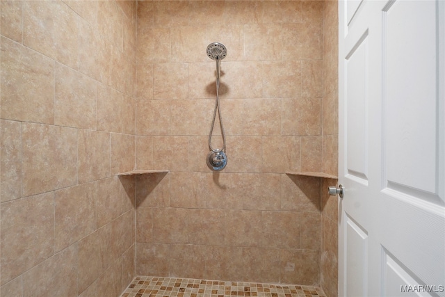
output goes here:
{"type": "Polygon", "coordinates": [[[211,170],[219,171],[223,170],[227,165],[227,156],[224,152],[225,150],[225,132],[223,127],[223,118],[221,118],[221,109],[220,109],[220,64],[221,60],[227,56],[227,49],[224,45],[221,45],[218,42],[213,42],[207,46],[207,56],[212,60],[216,61],[216,102],[215,102],[215,111],[213,112],[213,120],[211,122],[211,128],[209,133],[209,148],[210,152],[207,155],[207,166],[211,170]],[[223,147],[221,149],[214,149],[211,146],[211,136],[213,132],[213,126],[215,125],[216,119],[216,110],[218,110],[218,116],[220,120],[221,134],[223,136],[223,147]]]}

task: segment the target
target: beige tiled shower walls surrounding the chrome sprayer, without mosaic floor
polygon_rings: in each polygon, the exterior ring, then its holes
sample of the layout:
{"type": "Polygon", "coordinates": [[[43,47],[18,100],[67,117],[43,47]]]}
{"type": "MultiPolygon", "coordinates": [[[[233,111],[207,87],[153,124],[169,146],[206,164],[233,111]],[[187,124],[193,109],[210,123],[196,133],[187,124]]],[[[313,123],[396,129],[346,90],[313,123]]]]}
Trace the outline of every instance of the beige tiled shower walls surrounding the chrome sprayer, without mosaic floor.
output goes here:
{"type": "Polygon", "coordinates": [[[2,297],[118,296],[136,275],[337,296],[337,180],[286,174],[337,175],[337,1],[0,8],[2,297]]]}

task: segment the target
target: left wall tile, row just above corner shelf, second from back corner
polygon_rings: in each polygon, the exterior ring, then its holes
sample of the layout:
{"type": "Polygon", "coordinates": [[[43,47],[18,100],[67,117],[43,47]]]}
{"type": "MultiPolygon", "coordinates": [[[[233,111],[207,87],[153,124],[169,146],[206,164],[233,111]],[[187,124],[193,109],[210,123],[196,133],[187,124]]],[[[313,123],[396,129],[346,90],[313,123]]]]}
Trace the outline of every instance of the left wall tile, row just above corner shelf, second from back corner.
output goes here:
{"type": "Polygon", "coordinates": [[[110,176],[110,134],[100,131],[79,131],[79,183],[110,176]]]}

